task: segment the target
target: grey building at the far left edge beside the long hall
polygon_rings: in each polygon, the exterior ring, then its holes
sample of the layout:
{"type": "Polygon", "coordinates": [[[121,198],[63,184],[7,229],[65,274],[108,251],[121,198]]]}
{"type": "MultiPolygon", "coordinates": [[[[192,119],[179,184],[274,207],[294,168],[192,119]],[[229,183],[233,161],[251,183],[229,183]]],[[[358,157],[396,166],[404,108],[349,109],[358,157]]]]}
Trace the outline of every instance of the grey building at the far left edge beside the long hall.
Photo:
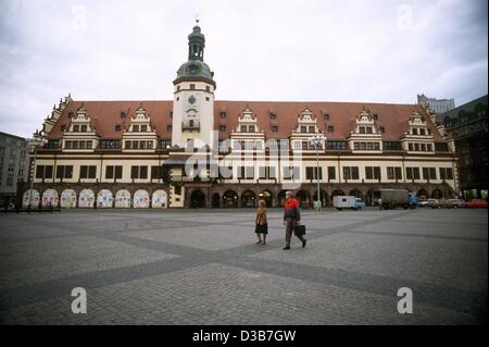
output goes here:
{"type": "Polygon", "coordinates": [[[18,136],[0,132],[0,206],[13,201],[17,182],[28,175],[27,141],[18,136]]]}

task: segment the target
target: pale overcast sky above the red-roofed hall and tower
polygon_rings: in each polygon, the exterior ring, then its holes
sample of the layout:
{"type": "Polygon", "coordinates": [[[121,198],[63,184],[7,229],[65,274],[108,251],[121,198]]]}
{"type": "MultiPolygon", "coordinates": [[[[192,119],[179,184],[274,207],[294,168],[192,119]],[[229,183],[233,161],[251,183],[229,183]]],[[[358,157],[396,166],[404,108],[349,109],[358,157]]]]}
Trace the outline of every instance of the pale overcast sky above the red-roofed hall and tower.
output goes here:
{"type": "Polygon", "coordinates": [[[0,0],[0,131],[52,106],[171,100],[200,18],[217,100],[415,103],[487,94],[487,0],[0,0]]]}

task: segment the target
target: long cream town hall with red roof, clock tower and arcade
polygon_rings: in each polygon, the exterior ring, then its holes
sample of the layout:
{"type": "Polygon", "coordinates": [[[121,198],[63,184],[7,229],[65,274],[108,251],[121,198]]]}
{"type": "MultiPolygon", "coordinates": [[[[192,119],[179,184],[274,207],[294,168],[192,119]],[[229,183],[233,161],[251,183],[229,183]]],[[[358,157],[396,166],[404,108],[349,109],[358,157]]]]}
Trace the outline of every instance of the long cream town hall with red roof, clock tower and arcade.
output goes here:
{"type": "MultiPolygon", "coordinates": [[[[455,156],[421,104],[215,100],[199,26],[168,101],[63,98],[43,123],[34,205],[61,208],[303,207],[381,187],[451,197],[455,156]],[[314,148],[309,138],[327,140],[314,148]],[[316,164],[316,150],[319,168],[316,164]],[[321,190],[316,191],[316,179],[321,190]],[[37,197],[37,200],[36,200],[37,197]]],[[[28,185],[20,189],[29,203],[28,185]]]]}

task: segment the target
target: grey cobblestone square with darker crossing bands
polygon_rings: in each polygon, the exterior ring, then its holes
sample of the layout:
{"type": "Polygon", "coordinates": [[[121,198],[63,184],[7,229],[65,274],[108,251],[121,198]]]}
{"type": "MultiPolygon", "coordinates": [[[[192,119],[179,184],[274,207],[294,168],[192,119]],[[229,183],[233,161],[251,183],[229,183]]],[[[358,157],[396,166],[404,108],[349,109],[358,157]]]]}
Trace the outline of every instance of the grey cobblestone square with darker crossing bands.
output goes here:
{"type": "Polygon", "coordinates": [[[1,324],[480,324],[487,210],[63,210],[0,215],[1,324]],[[72,289],[87,313],[72,312],[72,289]],[[413,292],[413,313],[397,294],[413,292]]]}

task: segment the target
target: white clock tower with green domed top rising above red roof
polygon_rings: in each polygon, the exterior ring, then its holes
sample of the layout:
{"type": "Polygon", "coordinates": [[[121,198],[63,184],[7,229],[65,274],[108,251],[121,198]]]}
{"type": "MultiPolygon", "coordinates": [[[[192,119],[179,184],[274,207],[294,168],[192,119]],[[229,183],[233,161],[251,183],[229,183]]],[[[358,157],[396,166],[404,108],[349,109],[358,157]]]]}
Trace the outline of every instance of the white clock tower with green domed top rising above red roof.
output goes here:
{"type": "Polygon", "coordinates": [[[188,36],[188,61],[177,71],[173,100],[172,146],[213,146],[214,73],[204,63],[205,37],[200,26],[188,36]]]}

